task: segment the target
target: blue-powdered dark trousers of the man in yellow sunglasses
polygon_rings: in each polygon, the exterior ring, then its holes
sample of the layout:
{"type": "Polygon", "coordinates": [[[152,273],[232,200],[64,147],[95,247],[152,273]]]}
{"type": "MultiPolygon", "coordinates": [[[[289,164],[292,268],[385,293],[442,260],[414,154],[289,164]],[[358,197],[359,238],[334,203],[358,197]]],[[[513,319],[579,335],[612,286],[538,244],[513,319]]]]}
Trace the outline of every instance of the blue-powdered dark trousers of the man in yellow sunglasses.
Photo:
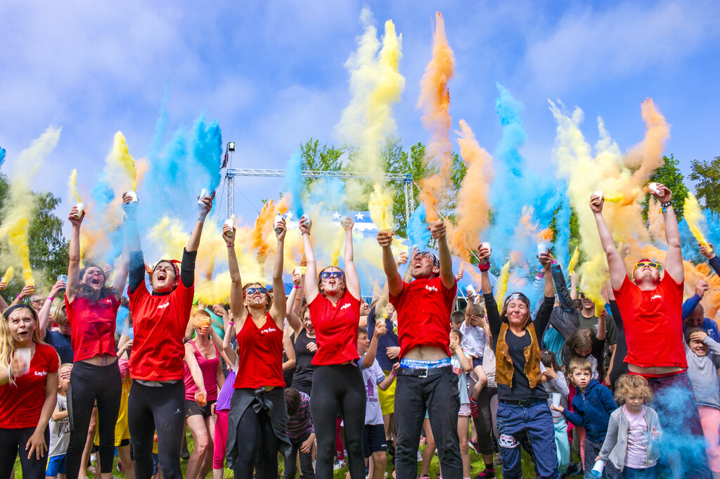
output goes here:
{"type": "Polygon", "coordinates": [[[647,383],[654,393],[649,406],[662,426],[661,471],[669,467],[676,479],[709,479],[705,437],[688,373],[650,377],[647,383]]]}

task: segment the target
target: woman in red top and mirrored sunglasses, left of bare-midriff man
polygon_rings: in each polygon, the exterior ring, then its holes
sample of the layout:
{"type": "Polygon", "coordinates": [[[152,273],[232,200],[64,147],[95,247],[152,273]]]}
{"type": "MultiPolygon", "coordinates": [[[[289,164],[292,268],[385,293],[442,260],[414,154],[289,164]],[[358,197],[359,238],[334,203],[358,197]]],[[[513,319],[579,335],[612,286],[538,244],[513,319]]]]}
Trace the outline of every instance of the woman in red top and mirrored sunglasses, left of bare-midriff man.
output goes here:
{"type": "Polygon", "coordinates": [[[315,253],[310,242],[310,222],[300,220],[305,244],[305,299],[310,307],[318,352],[312,358],[310,408],[318,457],[315,476],[333,478],[335,428],[338,413],[345,422],[345,447],[352,479],[365,477],[363,427],[365,424],[365,385],[357,366],[360,321],[360,280],[353,261],[353,220],[343,218],[345,229],[345,272],[329,266],[317,275],[315,253]],[[318,282],[315,282],[315,278],[318,282]]]}

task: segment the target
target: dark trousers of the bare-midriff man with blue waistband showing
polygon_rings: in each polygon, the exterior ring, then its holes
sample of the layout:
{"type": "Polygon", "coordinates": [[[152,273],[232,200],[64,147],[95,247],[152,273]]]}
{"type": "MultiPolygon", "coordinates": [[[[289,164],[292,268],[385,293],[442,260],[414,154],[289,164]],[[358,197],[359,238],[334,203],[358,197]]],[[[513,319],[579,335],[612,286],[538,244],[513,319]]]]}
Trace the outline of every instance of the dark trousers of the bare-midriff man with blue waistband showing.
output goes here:
{"type": "Polygon", "coordinates": [[[443,368],[428,377],[397,377],[395,385],[395,470],[397,479],[418,475],[418,446],[425,413],[430,418],[444,479],[462,479],[462,457],[457,435],[460,394],[457,375],[443,368]]]}

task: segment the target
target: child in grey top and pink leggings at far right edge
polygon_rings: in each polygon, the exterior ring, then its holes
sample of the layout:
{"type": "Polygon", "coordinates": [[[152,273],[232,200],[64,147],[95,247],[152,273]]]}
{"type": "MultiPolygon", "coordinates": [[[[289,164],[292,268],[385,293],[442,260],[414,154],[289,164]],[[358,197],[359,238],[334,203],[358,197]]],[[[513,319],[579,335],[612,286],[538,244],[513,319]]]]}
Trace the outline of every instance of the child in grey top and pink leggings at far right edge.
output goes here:
{"type": "Polygon", "coordinates": [[[706,440],[708,465],[713,478],[717,479],[720,478],[720,381],[717,374],[720,344],[702,329],[691,328],[685,333],[685,357],[706,440]]]}

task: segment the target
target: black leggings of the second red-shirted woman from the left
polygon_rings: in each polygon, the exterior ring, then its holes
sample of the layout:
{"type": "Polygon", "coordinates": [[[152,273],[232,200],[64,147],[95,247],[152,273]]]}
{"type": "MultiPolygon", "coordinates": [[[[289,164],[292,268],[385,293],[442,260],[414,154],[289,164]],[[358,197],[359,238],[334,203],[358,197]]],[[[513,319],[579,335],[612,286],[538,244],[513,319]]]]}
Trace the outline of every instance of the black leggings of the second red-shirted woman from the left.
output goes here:
{"type": "Polygon", "coordinates": [[[82,361],[73,364],[68,388],[70,442],[65,460],[68,479],[78,478],[95,401],[97,401],[97,427],[100,439],[100,472],[112,473],[115,424],[117,411],[120,410],[121,395],[122,378],[117,362],[107,366],[96,366],[82,361]]]}

